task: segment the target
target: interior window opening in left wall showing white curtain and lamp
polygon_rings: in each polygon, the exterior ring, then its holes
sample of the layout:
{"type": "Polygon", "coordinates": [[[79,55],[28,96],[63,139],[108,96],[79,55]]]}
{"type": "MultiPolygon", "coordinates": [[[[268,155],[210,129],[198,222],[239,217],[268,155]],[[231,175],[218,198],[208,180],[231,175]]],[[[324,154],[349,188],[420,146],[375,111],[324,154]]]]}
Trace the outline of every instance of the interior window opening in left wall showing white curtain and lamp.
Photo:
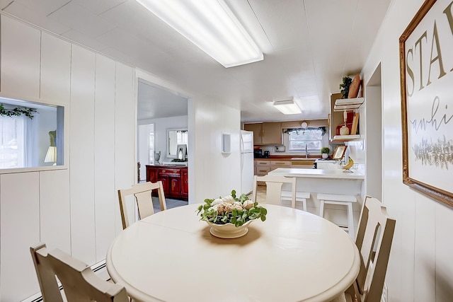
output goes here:
{"type": "Polygon", "coordinates": [[[64,107],[0,98],[0,169],[64,165],[64,107]]]}

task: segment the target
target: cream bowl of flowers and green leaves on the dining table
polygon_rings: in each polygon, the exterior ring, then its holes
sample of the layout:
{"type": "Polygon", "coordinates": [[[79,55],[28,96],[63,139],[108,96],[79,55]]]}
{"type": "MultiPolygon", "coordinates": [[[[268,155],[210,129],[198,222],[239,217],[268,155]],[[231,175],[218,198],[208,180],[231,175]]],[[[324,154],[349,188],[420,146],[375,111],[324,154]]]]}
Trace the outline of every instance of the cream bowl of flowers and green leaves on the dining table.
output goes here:
{"type": "Polygon", "coordinates": [[[205,204],[198,207],[200,220],[211,226],[210,233],[219,238],[239,238],[248,233],[251,221],[265,221],[268,210],[259,207],[258,202],[252,202],[246,194],[236,197],[236,191],[231,195],[216,199],[205,199],[205,204]]]}

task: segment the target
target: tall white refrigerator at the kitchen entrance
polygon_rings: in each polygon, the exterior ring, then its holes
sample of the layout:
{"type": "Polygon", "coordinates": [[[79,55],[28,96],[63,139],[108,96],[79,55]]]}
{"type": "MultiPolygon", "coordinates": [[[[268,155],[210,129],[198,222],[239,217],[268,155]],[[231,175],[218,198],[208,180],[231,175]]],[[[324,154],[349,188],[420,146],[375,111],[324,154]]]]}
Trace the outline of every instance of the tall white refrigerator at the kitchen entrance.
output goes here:
{"type": "Polygon", "coordinates": [[[253,132],[241,130],[241,193],[253,191],[253,132]]]}

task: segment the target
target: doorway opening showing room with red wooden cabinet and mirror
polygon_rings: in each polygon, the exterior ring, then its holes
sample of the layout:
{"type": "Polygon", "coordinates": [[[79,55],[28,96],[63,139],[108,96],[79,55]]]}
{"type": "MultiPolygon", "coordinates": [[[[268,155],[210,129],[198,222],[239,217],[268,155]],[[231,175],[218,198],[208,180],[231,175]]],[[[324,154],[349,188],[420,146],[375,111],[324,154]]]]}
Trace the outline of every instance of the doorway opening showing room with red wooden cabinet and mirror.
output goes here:
{"type": "MultiPolygon", "coordinates": [[[[181,160],[176,157],[178,145],[170,144],[173,141],[168,133],[174,129],[188,137],[188,98],[150,81],[138,79],[139,181],[161,181],[167,208],[178,207],[182,205],[181,201],[183,204],[187,204],[188,201],[188,162],[181,162],[185,158],[181,160]],[[172,173],[168,174],[168,171],[172,173]]],[[[188,146],[188,140],[181,144],[188,146]]]]}

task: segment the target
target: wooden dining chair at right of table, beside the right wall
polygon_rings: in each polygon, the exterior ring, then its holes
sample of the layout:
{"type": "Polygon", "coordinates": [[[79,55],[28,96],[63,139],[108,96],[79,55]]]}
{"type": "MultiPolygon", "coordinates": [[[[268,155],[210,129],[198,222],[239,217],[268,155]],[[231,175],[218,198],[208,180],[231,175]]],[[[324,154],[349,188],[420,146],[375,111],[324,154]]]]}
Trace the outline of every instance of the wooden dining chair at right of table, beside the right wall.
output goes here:
{"type": "Polygon", "coordinates": [[[341,296],[334,301],[381,301],[395,223],[378,199],[365,197],[355,238],[360,250],[359,274],[345,292],[345,299],[341,296]]]}

